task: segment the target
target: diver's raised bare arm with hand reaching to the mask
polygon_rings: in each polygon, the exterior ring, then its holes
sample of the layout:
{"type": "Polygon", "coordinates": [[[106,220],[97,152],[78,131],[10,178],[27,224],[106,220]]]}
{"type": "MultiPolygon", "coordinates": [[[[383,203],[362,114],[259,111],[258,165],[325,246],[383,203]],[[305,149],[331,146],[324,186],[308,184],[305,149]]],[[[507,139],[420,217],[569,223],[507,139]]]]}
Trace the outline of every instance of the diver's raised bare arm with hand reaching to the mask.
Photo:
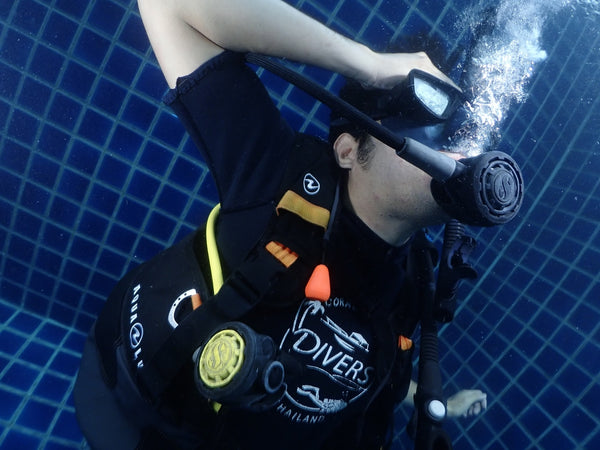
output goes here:
{"type": "Polygon", "coordinates": [[[222,49],[285,57],[382,87],[395,84],[415,67],[441,74],[424,53],[372,52],[281,0],[138,0],[138,4],[171,87],[177,77],[222,49]]]}

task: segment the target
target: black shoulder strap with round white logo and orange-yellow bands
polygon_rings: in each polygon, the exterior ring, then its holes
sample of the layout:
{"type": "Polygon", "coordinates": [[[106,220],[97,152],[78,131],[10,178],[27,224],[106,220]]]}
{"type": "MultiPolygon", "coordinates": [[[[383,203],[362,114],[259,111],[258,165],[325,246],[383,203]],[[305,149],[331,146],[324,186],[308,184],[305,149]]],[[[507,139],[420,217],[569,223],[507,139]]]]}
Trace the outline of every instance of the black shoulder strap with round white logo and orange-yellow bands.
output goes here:
{"type": "MultiPolygon", "coordinates": [[[[261,302],[281,301],[276,295],[278,286],[284,285],[287,292],[303,292],[312,269],[322,259],[337,184],[330,147],[299,135],[284,175],[283,195],[263,238],[220,290],[202,299],[202,306],[188,314],[139,372],[152,402],[160,399],[217,326],[238,320],[261,302]]],[[[287,304],[297,301],[301,298],[287,304]]]]}

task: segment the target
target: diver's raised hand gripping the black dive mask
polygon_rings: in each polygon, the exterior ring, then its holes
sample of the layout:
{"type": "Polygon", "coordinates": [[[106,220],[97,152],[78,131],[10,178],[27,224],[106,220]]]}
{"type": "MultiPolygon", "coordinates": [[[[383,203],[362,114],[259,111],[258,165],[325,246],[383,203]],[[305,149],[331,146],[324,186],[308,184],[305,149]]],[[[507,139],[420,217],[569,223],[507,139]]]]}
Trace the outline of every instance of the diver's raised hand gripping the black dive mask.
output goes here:
{"type": "Polygon", "coordinates": [[[377,70],[374,77],[366,80],[365,87],[391,89],[404,80],[413,69],[428,72],[440,80],[457,87],[456,84],[439,70],[425,52],[417,53],[376,53],[377,70]]]}

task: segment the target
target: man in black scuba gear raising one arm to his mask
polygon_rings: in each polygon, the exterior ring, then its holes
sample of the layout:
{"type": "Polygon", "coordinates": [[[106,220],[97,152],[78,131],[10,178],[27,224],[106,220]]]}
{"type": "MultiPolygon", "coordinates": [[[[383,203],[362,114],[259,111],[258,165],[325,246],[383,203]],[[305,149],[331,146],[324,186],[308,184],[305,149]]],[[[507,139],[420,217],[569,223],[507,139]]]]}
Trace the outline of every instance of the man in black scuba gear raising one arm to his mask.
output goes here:
{"type": "MultiPolygon", "coordinates": [[[[458,89],[424,53],[375,53],[279,0],[138,4],[165,101],[220,207],[107,299],[74,389],[86,439],[99,449],[389,448],[394,408],[418,390],[413,235],[450,220],[440,200],[450,191],[438,183],[434,198],[429,174],[340,114],[331,143],[293,131],[245,53],[356,80],[344,94],[355,104],[399,85],[394,101],[458,89]]],[[[426,117],[389,103],[367,114],[404,136],[427,135],[428,117],[446,109],[426,117]]],[[[407,142],[410,155],[418,143],[407,142]]],[[[485,407],[484,393],[461,391],[445,415],[485,407]]]]}

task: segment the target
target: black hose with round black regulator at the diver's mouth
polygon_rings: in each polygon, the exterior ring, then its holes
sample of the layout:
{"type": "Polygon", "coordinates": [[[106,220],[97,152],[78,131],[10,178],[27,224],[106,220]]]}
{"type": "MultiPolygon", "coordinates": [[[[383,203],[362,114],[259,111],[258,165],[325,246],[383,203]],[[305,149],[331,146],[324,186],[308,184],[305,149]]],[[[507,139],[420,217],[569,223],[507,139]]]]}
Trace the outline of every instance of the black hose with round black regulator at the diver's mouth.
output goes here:
{"type": "Polygon", "coordinates": [[[314,81],[272,59],[249,53],[246,60],[264,67],[360,125],[396,154],[431,175],[436,202],[467,225],[506,223],[518,213],[523,200],[523,176],[517,163],[502,152],[485,152],[460,162],[410,138],[396,136],[368,115],[314,81]]]}

